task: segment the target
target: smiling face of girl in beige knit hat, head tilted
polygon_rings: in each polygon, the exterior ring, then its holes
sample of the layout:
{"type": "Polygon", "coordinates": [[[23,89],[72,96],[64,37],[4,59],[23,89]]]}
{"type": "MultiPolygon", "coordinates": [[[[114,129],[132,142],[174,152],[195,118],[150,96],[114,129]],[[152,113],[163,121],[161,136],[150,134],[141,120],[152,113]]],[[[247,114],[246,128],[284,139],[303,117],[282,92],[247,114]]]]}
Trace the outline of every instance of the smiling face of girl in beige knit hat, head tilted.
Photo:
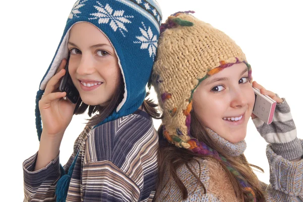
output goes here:
{"type": "Polygon", "coordinates": [[[234,64],[203,80],[193,94],[198,120],[231,143],[246,136],[255,93],[248,81],[247,66],[234,64]]]}

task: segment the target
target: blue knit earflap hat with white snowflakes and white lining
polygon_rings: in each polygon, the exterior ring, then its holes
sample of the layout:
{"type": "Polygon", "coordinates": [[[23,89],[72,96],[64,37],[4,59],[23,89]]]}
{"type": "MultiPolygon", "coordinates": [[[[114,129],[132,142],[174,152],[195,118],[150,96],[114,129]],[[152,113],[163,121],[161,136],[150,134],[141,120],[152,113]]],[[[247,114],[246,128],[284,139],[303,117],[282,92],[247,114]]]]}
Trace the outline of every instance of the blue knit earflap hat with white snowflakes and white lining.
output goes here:
{"type": "Polygon", "coordinates": [[[155,0],[78,0],[68,17],[56,54],[36,95],[35,115],[39,140],[42,125],[38,102],[47,82],[55,75],[61,61],[68,57],[69,32],[75,23],[89,22],[107,35],[115,49],[123,75],[123,100],[100,125],[131,114],[142,104],[156,56],[161,21],[162,13],[155,0]]]}

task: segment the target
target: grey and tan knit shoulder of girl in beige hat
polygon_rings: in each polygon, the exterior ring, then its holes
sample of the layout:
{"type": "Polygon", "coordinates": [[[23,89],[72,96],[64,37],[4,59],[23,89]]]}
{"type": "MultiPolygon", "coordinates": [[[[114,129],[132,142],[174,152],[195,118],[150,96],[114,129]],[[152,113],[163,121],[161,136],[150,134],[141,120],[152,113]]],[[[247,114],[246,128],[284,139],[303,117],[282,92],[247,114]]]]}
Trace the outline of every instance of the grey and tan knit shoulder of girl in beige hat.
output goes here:
{"type": "MultiPolygon", "coordinates": [[[[225,170],[217,161],[195,158],[189,162],[188,167],[183,164],[177,169],[177,175],[188,191],[187,201],[191,201],[191,199],[195,198],[197,195],[208,199],[211,197],[214,199],[211,201],[237,201],[231,181],[225,170]],[[192,172],[189,171],[188,167],[192,172]],[[198,185],[194,174],[198,176],[203,183],[206,188],[206,193],[203,186],[198,185]]],[[[168,186],[166,186],[163,189],[161,196],[165,196],[170,192],[170,194],[175,194],[174,197],[182,200],[182,193],[174,179],[166,176],[166,180],[168,180],[168,184],[170,184],[170,190],[168,190],[168,186]]]]}

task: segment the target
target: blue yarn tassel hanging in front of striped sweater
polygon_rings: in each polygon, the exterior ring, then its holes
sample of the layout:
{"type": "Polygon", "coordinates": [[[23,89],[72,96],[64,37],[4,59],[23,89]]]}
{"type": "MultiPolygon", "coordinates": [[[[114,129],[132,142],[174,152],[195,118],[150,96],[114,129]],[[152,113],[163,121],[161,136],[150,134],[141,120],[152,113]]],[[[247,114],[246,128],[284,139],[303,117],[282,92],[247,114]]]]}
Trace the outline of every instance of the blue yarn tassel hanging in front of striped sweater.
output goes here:
{"type": "MultiPolygon", "coordinates": [[[[79,152],[80,151],[78,151],[78,154],[75,156],[72,165],[69,167],[68,173],[66,175],[61,176],[61,178],[57,182],[57,187],[56,187],[56,192],[55,192],[57,202],[65,202],[66,201],[69,184],[70,184],[70,181],[71,181],[71,177],[72,177],[72,174],[73,174],[73,171],[74,171],[74,168],[75,168],[75,164],[76,164],[79,152]]],[[[62,168],[60,168],[60,170],[62,171],[62,168]]]]}

